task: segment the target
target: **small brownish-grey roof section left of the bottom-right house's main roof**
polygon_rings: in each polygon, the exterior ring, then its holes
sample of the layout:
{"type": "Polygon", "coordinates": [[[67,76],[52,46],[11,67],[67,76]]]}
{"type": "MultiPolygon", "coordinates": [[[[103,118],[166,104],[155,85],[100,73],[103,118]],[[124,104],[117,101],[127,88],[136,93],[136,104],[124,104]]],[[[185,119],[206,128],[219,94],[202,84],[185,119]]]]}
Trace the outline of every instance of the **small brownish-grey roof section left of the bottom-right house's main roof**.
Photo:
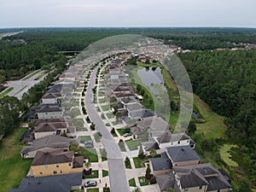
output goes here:
{"type": "Polygon", "coordinates": [[[166,189],[174,188],[175,177],[173,173],[157,175],[155,176],[156,183],[158,183],[160,187],[160,191],[166,191],[166,189]]]}

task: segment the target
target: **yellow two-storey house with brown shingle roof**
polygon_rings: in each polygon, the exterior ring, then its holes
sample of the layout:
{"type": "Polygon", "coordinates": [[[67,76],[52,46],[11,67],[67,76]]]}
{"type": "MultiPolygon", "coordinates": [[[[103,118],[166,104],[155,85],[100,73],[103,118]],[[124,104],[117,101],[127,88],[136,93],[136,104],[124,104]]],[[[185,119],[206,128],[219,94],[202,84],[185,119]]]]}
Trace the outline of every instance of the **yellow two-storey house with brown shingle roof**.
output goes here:
{"type": "Polygon", "coordinates": [[[30,175],[44,177],[83,172],[84,157],[75,157],[73,151],[63,152],[62,148],[54,151],[38,151],[35,155],[30,175]]]}

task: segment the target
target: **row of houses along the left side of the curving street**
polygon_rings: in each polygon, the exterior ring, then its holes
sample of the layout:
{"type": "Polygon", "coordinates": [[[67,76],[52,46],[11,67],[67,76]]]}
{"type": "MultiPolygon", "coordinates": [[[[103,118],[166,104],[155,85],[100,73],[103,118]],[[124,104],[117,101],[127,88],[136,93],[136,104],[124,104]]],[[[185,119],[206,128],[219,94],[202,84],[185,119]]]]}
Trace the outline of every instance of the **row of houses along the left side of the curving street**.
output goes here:
{"type": "Polygon", "coordinates": [[[26,118],[33,120],[34,125],[20,137],[21,143],[30,144],[21,149],[20,155],[33,160],[19,188],[9,192],[81,189],[84,157],[69,150],[73,143],[79,145],[79,139],[63,137],[72,128],[63,118],[61,108],[62,90],[70,86],[63,79],[51,84],[40,105],[28,113],[26,118]]]}

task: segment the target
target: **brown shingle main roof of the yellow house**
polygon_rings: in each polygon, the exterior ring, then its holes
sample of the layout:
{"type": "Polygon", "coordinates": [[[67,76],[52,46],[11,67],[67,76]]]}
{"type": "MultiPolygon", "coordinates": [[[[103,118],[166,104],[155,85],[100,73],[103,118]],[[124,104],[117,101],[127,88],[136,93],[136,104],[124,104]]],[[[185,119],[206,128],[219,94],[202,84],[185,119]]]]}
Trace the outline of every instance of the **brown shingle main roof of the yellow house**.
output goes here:
{"type": "Polygon", "coordinates": [[[62,149],[57,149],[50,152],[38,151],[34,160],[32,161],[32,166],[72,162],[73,155],[73,151],[63,152],[62,149]]]}

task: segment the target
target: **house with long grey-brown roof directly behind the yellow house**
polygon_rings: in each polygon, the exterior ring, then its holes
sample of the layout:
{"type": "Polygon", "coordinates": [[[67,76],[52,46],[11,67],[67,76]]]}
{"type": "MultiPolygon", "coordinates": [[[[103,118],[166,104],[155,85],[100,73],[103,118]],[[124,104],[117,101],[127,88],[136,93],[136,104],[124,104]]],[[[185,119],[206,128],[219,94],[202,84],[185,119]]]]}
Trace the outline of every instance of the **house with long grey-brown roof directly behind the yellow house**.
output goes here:
{"type": "Polygon", "coordinates": [[[53,151],[58,148],[61,148],[63,152],[67,152],[72,143],[79,144],[79,141],[73,138],[55,135],[42,137],[34,140],[31,146],[22,148],[20,155],[22,158],[34,158],[38,151],[53,151]]]}

